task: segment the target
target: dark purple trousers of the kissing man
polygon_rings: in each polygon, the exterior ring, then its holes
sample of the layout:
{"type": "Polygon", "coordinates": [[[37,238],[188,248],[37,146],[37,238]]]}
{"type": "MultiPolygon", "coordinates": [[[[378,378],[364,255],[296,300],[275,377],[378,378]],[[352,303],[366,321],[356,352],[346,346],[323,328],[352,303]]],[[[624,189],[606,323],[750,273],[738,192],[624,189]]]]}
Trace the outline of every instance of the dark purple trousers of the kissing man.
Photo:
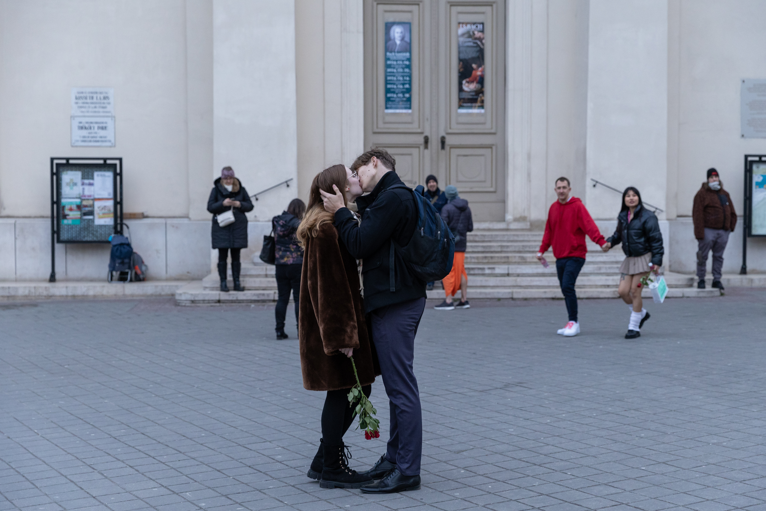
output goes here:
{"type": "Polygon", "coordinates": [[[373,310],[372,342],[378,352],[385,393],[391,411],[391,433],[385,457],[405,476],[421,473],[423,416],[421,395],[412,371],[415,334],[426,306],[425,298],[373,310]]]}

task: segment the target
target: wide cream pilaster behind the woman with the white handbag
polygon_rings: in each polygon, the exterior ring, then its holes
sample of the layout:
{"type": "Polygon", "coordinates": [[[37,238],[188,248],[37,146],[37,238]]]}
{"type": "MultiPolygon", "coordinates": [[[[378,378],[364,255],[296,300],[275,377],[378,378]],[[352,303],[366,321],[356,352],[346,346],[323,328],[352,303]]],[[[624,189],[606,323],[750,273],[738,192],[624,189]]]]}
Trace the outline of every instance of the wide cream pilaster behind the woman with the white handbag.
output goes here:
{"type": "MultiPolygon", "coordinates": [[[[294,2],[214,0],[213,130],[211,185],[225,165],[250,194],[296,179],[294,2]]],[[[248,217],[270,221],[295,197],[293,181],[248,217]]]]}

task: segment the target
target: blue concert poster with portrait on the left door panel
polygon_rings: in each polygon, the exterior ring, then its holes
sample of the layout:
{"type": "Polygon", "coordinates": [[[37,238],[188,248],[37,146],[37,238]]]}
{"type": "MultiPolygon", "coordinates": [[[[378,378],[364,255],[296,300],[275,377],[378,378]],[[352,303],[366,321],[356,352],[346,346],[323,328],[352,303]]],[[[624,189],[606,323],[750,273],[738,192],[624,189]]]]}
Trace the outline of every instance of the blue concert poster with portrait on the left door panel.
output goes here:
{"type": "Polygon", "coordinates": [[[412,113],[411,23],[385,24],[385,113],[412,113]]]}

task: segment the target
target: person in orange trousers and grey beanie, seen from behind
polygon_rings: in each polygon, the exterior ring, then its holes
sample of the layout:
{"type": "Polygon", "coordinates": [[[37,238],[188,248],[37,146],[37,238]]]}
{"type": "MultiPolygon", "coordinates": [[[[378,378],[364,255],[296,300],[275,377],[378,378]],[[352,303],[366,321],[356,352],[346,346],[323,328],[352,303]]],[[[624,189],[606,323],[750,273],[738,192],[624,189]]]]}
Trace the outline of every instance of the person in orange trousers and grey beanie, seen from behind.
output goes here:
{"type": "Polygon", "coordinates": [[[447,222],[455,236],[455,258],[452,263],[452,271],[441,281],[444,285],[444,294],[447,295],[444,302],[435,306],[436,310],[469,309],[468,303],[468,274],[466,274],[466,236],[473,231],[473,218],[468,201],[457,195],[457,188],[453,185],[444,188],[447,196],[447,204],[441,208],[441,218],[447,222]],[[453,303],[452,297],[460,290],[460,302],[453,303]]]}

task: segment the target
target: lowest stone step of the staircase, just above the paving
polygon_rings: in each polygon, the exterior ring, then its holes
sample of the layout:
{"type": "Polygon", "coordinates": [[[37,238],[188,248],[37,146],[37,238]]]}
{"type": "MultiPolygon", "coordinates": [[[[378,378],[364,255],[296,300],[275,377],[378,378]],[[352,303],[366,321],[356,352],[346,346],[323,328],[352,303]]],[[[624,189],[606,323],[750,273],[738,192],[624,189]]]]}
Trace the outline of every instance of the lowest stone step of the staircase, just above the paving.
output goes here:
{"type": "MultiPolygon", "coordinates": [[[[562,299],[561,290],[558,287],[537,288],[508,288],[508,287],[469,287],[469,299],[562,299]]],[[[587,287],[578,286],[579,298],[617,298],[617,287],[587,287]]],[[[682,297],[710,297],[720,296],[717,289],[698,290],[696,287],[672,287],[668,290],[669,298],[682,297]]],[[[434,289],[427,295],[432,299],[444,298],[444,291],[434,289]]],[[[651,300],[649,290],[644,290],[641,295],[651,300]]],[[[205,290],[201,281],[188,283],[175,293],[175,300],[179,305],[195,305],[205,303],[273,303],[277,300],[277,290],[245,290],[242,292],[230,291],[221,293],[217,290],[205,290]]]]}

